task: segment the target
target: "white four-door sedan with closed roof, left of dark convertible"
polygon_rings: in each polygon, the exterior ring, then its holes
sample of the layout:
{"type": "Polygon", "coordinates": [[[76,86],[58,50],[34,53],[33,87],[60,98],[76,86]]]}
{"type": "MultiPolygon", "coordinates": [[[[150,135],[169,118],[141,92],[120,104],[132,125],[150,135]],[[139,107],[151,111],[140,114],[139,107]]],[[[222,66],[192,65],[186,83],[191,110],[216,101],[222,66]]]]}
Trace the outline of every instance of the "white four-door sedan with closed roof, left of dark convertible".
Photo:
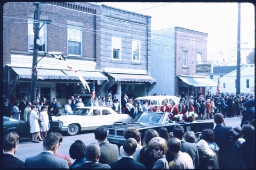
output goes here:
{"type": "Polygon", "coordinates": [[[52,130],[69,135],[95,130],[101,125],[131,122],[130,115],[117,114],[109,107],[77,107],[73,114],[52,117],[52,130]]]}

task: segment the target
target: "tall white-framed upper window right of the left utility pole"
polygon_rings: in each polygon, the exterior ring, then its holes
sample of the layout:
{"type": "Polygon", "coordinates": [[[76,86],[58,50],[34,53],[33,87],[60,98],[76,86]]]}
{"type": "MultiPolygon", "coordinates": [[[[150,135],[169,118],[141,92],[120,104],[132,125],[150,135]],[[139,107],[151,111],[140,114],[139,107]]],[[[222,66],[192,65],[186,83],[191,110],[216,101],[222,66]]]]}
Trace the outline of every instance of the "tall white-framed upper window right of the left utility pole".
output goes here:
{"type": "Polygon", "coordinates": [[[68,55],[82,56],[82,27],[68,25],[68,55]]]}

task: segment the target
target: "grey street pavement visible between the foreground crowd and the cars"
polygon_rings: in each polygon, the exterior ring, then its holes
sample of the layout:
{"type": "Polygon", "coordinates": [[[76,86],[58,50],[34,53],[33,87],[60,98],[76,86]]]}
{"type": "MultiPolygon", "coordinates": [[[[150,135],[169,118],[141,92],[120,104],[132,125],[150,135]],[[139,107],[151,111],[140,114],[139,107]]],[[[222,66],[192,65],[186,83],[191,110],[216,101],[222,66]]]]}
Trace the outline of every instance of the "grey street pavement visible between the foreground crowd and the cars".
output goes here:
{"type": "MultiPolygon", "coordinates": [[[[197,121],[202,122],[201,119],[199,119],[197,121]]],[[[214,121],[213,121],[213,119],[211,119],[211,120],[206,119],[205,122],[214,122],[214,121]]],[[[225,122],[227,123],[228,126],[231,126],[231,127],[234,128],[235,126],[240,125],[241,118],[239,118],[239,117],[225,118],[225,122]]],[[[215,126],[215,124],[214,124],[214,126],[215,126]]],[[[62,145],[59,149],[59,152],[61,154],[66,154],[66,155],[69,156],[69,147],[77,139],[82,140],[85,143],[86,146],[89,145],[92,142],[97,143],[97,141],[94,139],[93,131],[82,132],[82,133],[79,133],[75,136],[65,135],[63,137],[63,142],[62,142],[62,145]]],[[[35,155],[39,154],[42,150],[43,150],[43,142],[31,143],[30,140],[21,140],[20,143],[19,143],[18,150],[17,150],[17,153],[15,154],[15,156],[17,158],[21,159],[23,162],[25,162],[27,157],[35,156],[35,155]]],[[[71,160],[71,162],[74,162],[73,159],[70,158],[70,160],[71,160]]]]}

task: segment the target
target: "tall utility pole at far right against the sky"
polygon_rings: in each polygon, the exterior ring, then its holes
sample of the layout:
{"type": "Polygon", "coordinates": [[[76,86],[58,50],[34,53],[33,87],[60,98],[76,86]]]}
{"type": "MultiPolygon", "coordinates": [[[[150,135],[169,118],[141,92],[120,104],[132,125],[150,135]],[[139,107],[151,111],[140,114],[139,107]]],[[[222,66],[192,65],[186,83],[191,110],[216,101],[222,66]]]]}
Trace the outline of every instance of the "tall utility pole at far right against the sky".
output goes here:
{"type": "Polygon", "coordinates": [[[237,65],[236,65],[236,95],[240,95],[240,27],[241,27],[241,3],[238,2],[238,22],[237,22],[237,65]]]}

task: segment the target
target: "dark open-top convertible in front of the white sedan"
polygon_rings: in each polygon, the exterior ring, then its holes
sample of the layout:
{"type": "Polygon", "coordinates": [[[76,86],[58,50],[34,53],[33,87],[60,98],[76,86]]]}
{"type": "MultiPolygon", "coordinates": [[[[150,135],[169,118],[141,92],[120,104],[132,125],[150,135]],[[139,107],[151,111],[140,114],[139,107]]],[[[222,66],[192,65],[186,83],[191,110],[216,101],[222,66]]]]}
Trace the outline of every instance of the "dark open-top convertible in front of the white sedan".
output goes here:
{"type": "Polygon", "coordinates": [[[181,125],[185,132],[194,131],[196,135],[196,142],[199,141],[201,132],[204,129],[213,129],[213,122],[184,122],[184,123],[169,123],[168,113],[163,112],[142,112],[140,113],[134,121],[130,123],[116,123],[110,125],[102,125],[102,128],[109,130],[108,141],[110,143],[116,143],[117,145],[122,145],[125,141],[124,130],[128,127],[137,128],[141,134],[141,141],[145,136],[145,132],[148,129],[155,129],[158,131],[160,128],[164,127],[168,132],[172,132],[173,126],[181,125]]]}

